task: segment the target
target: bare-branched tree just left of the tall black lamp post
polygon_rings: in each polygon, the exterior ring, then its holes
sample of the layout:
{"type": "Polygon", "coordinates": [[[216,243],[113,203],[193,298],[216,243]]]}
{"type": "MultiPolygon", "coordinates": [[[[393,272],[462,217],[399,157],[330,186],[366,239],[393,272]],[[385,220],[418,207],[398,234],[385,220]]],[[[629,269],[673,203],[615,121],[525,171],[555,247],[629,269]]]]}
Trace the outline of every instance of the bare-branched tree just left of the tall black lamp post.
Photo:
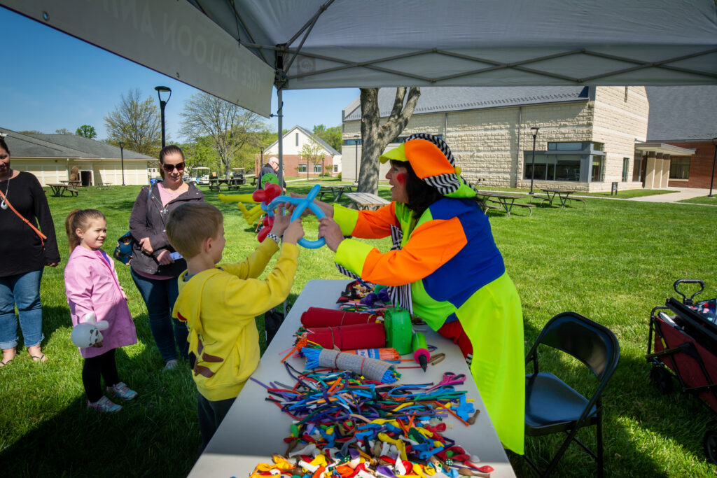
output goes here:
{"type": "Polygon", "coordinates": [[[161,117],[152,97],[142,101],[140,96],[138,88],[129,90],[105,116],[110,144],[123,141],[127,149],[157,157],[162,146],[161,117]]]}

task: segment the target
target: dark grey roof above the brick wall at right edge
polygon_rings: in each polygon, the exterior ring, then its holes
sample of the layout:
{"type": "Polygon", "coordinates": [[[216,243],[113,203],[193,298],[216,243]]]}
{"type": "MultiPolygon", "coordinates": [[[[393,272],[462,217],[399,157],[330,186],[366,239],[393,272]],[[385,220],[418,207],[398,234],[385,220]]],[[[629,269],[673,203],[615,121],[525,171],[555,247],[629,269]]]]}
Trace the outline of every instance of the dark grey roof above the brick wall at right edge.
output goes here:
{"type": "Polygon", "coordinates": [[[648,86],[648,141],[717,137],[717,86],[648,86]]]}

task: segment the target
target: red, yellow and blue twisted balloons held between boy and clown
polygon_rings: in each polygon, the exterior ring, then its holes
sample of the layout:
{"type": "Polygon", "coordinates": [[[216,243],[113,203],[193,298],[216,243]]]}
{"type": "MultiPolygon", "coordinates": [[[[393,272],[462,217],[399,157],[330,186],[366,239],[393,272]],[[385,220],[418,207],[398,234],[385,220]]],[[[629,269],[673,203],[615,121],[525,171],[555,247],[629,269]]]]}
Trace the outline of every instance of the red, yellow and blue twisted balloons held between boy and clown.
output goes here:
{"type": "MultiPolygon", "coordinates": [[[[262,214],[266,214],[264,219],[262,219],[262,228],[257,234],[259,242],[263,242],[267,234],[270,233],[272,226],[274,226],[274,211],[286,203],[296,206],[291,214],[292,221],[300,218],[303,211],[307,208],[313,211],[318,219],[325,216],[320,207],[313,202],[320,189],[320,184],[315,184],[305,198],[292,198],[290,196],[282,196],[281,188],[278,184],[267,183],[263,189],[257,189],[257,191],[254,191],[252,194],[233,194],[231,196],[219,194],[219,199],[223,202],[236,202],[239,210],[242,211],[242,216],[244,216],[244,219],[246,219],[249,224],[254,224],[262,214]],[[242,203],[254,203],[257,205],[252,209],[247,209],[242,203]]],[[[299,239],[298,243],[307,249],[318,249],[326,244],[323,237],[315,241],[310,241],[303,237],[299,239]]]]}

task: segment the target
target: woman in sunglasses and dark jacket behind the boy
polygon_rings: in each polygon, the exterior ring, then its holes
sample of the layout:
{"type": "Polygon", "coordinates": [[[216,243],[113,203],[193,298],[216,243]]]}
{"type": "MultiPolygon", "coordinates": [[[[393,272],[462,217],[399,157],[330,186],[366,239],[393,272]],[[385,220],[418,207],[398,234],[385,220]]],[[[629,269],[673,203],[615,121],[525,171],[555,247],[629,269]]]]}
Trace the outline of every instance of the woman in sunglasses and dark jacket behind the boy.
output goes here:
{"type": "Polygon", "coordinates": [[[189,359],[189,330],[171,317],[179,295],[177,277],[186,269],[186,261],[172,258],[175,250],[164,229],[176,206],[204,201],[204,195],[194,184],[182,181],[184,153],[178,146],[162,148],[159,166],[163,181],[142,188],[130,215],[130,233],[135,239],[130,272],[147,305],[149,328],[168,370],[177,365],[178,347],[182,358],[189,359]]]}

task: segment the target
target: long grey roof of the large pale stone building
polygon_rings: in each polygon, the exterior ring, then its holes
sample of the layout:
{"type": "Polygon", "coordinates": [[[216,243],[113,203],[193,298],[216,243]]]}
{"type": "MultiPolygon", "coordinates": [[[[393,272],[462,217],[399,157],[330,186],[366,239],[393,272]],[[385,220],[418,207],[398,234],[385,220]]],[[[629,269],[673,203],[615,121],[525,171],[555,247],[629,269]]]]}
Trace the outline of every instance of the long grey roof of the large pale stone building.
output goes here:
{"type": "MultiPolygon", "coordinates": [[[[391,114],[396,88],[379,90],[381,118],[391,114]]],[[[408,94],[406,95],[408,97],[408,94]]],[[[496,107],[543,105],[589,100],[589,88],[581,86],[538,87],[421,87],[414,115],[446,113],[450,111],[480,110],[496,107]]],[[[361,119],[361,98],[353,100],[343,110],[343,120],[361,119]]]]}

